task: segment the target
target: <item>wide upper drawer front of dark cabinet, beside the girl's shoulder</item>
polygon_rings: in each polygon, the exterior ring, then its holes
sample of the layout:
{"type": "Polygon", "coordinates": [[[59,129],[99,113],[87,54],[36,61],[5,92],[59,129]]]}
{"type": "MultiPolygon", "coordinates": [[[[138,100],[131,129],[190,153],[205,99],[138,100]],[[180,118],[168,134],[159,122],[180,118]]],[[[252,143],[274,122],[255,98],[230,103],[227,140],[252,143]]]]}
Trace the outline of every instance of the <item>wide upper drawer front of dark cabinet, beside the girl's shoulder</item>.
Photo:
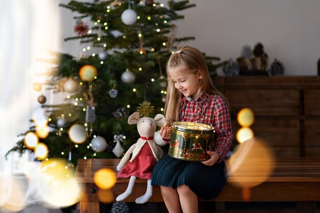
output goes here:
{"type": "Polygon", "coordinates": [[[252,109],[255,115],[300,114],[298,89],[226,89],[224,94],[233,114],[245,107],[252,109]]]}

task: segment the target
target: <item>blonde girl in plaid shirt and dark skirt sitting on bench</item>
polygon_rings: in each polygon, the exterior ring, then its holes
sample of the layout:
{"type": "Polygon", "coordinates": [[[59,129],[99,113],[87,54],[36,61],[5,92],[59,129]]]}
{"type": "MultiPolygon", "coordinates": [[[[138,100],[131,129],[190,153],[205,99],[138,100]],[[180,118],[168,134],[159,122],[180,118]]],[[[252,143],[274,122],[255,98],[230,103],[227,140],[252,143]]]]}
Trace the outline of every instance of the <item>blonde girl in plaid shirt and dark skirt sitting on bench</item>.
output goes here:
{"type": "MultiPolygon", "coordinates": [[[[212,199],[223,187],[224,156],[230,149],[233,134],[227,101],[214,87],[202,53],[182,46],[167,63],[168,88],[165,104],[166,121],[198,122],[214,125],[217,138],[207,161],[187,161],[162,156],[155,165],[152,185],[160,185],[170,213],[198,212],[198,198],[212,199]]],[[[162,138],[169,143],[171,128],[162,127],[162,138]]]]}

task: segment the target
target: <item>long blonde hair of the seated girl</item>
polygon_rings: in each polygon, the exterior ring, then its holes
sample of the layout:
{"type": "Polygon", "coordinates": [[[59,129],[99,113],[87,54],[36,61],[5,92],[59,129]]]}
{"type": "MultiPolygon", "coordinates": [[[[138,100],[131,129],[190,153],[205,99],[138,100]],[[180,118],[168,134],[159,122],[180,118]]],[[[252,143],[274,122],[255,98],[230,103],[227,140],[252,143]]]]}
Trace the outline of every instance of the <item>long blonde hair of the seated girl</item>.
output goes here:
{"type": "MultiPolygon", "coordinates": [[[[191,46],[181,46],[174,54],[172,54],[167,62],[168,87],[165,104],[166,121],[173,122],[179,120],[179,107],[183,94],[179,92],[170,77],[169,70],[175,69],[177,72],[187,72],[189,74],[197,74],[202,72],[202,79],[199,82],[198,93],[205,92],[208,94],[222,94],[215,88],[210,78],[207,61],[203,54],[196,48],[191,46]]],[[[225,99],[225,98],[224,98],[225,99]]],[[[225,100],[226,101],[226,100],[225,100]]],[[[227,102],[226,102],[227,103],[227,102]]]]}

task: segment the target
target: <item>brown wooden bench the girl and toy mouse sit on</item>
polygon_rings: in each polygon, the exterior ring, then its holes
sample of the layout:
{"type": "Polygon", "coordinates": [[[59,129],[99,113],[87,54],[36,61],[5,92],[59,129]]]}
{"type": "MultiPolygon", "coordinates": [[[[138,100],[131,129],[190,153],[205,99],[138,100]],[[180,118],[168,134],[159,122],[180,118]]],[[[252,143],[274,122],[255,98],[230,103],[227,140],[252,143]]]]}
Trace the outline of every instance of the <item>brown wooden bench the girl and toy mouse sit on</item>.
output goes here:
{"type": "MultiPolygon", "coordinates": [[[[99,188],[94,174],[100,169],[115,171],[120,159],[79,159],[75,178],[84,186],[80,198],[80,212],[99,213],[99,188]]],[[[275,160],[275,170],[258,186],[251,188],[251,201],[295,201],[299,213],[315,213],[316,201],[320,201],[320,158],[287,158],[275,160]]],[[[111,191],[115,199],[128,186],[129,178],[119,178],[111,191]]],[[[232,185],[229,178],[215,199],[209,201],[243,201],[242,190],[232,185]]],[[[247,181],[250,181],[248,179],[247,181]]],[[[134,202],[146,191],[146,180],[137,179],[132,194],[124,202],[134,202]]],[[[204,201],[199,199],[199,201],[204,201]]],[[[159,186],[153,187],[149,202],[163,202],[159,186]]]]}

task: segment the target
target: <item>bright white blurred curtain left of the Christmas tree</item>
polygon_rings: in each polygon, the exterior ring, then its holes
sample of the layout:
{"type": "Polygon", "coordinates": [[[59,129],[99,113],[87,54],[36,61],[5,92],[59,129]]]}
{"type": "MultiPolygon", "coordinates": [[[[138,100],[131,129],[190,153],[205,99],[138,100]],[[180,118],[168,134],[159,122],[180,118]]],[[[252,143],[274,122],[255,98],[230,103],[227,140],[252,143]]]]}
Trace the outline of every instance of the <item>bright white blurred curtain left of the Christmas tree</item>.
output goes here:
{"type": "MultiPolygon", "coordinates": [[[[21,172],[28,156],[5,154],[15,146],[20,133],[29,130],[32,113],[40,108],[37,98],[51,94],[43,83],[51,64],[39,59],[60,51],[59,1],[0,1],[0,175],[21,172]],[[33,86],[40,83],[42,89],[33,86]]],[[[49,103],[50,104],[50,103],[49,103]]]]}

